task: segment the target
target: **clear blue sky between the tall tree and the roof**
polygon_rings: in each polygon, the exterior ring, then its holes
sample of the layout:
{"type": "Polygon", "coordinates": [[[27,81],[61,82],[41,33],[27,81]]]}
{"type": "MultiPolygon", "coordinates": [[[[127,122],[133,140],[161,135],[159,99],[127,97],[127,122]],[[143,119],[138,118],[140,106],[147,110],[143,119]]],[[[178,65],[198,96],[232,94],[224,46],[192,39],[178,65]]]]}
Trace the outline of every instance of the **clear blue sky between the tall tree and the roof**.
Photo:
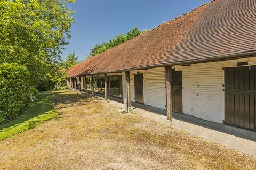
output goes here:
{"type": "Polygon", "coordinates": [[[76,0],[76,13],[69,45],[62,59],[73,50],[79,61],[87,58],[95,44],[101,44],[137,26],[152,29],[210,0],[76,0]]]}

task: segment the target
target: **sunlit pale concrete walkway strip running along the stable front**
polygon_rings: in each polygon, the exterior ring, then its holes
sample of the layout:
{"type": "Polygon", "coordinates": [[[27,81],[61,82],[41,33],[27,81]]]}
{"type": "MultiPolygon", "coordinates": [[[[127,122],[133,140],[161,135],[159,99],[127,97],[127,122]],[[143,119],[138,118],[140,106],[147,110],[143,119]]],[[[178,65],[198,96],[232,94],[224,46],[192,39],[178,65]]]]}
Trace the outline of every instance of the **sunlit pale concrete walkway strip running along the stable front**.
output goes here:
{"type": "MultiPolygon", "coordinates": [[[[124,108],[124,104],[118,103],[117,101],[108,100],[108,103],[118,108],[124,108]]],[[[133,111],[140,116],[148,118],[149,120],[153,120],[164,125],[172,124],[173,128],[177,128],[187,133],[197,135],[198,137],[202,137],[206,140],[219,143],[220,145],[241,151],[245,154],[256,156],[256,142],[252,140],[236,137],[235,135],[230,135],[228,133],[205,128],[203,126],[193,123],[180,121],[175,118],[172,118],[172,121],[167,121],[166,116],[146,111],[145,109],[141,108],[134,108],[133,111]]]]}

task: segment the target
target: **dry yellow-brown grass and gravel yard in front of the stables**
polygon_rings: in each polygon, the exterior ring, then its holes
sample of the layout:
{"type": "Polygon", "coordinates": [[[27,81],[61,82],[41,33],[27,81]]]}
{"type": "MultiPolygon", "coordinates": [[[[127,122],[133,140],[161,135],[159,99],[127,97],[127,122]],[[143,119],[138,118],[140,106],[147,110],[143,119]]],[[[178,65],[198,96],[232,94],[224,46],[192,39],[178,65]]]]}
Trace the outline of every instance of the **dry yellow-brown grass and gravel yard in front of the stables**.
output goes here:
{"type": "Polygon", "coordinates": [[[0,169],[256,169],[253,156],[105,100],[65,90],[51,96],[57,117],[0,141],[0,169]]]}

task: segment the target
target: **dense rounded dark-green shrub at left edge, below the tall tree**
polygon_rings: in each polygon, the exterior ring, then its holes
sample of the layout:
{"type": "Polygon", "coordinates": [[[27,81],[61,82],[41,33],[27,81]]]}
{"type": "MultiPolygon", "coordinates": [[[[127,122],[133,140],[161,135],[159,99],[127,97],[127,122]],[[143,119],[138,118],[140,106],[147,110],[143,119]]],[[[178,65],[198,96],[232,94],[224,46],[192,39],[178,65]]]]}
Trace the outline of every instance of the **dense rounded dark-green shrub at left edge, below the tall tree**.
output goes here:
{"type": "Polygon", "coordinates": [[[8,122],[29,103],[31,76],[25,66],[0,64],[0,124],[8,122]]]}

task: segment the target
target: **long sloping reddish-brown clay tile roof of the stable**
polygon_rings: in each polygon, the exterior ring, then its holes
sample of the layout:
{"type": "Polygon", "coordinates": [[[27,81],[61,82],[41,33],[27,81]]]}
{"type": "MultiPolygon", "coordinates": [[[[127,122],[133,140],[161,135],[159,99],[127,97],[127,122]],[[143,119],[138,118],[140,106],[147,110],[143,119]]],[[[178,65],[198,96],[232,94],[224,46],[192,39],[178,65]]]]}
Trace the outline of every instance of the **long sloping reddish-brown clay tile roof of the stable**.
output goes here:
{"type": "Polygon", "coordinates": [[[255,0],[215,0],[72,67],[68,77],[256,50],[255,0]]]}

